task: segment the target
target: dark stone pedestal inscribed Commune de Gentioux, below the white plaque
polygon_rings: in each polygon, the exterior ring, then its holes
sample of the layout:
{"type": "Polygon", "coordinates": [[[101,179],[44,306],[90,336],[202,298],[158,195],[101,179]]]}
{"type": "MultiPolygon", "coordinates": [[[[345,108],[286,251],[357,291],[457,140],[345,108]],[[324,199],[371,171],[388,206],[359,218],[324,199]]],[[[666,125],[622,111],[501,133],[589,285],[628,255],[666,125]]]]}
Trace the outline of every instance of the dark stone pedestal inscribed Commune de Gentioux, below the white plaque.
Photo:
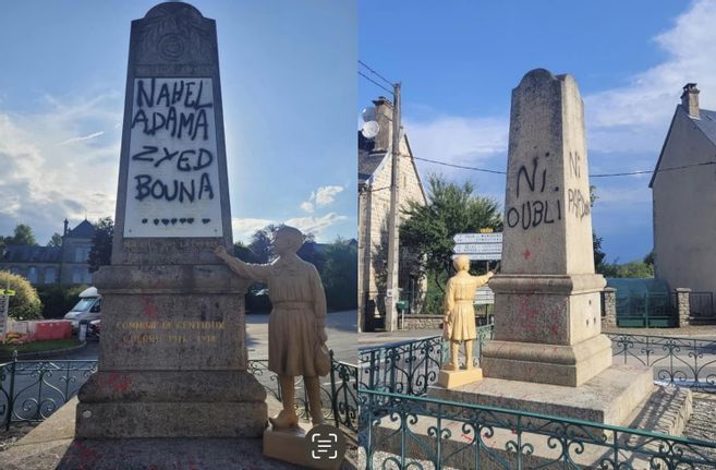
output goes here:
{"type": "Polygon", "coordinates": [[[259,437],[266,391],[247,372],[246,284],[223,266],[109,266],[98,372],[82,438],[259,437]]]}

